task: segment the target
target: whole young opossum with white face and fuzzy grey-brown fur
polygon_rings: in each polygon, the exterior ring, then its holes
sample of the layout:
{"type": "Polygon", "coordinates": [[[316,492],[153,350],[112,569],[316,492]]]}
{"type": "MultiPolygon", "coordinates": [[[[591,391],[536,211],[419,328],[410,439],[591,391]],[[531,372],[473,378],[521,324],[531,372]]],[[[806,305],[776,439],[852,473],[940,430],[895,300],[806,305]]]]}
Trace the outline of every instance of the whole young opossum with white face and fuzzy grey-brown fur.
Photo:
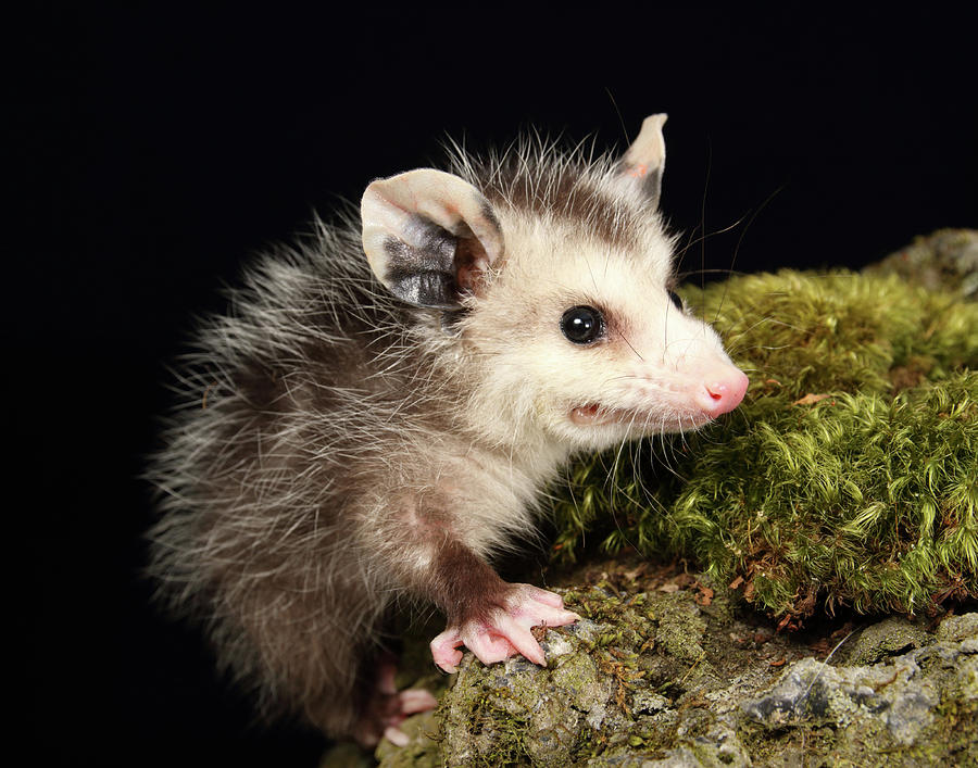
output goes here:
{"type": "Polygon", "coordinates": [[[151,571],[266,714],[396,741],[379,651],[396,603],[434,604],[454,671],[523,654],[577,616],[488,565],[532,530],[576,451],[701,427],[748,379],[672,291],[657,212],[665,115],[620,159],[525,142],[371,184],[248,273],[184,374],[154,457],[151,571]]]}

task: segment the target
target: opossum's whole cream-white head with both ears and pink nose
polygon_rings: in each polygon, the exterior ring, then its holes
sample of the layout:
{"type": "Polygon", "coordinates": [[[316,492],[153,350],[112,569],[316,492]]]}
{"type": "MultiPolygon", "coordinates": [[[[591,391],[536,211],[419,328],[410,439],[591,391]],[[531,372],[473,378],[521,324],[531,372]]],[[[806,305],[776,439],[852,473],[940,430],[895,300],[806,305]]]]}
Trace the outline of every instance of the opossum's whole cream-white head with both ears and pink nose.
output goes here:
{"type": "Polygon", "coordinates": [[[673,291],[674,240],[657,212],[664,123],[647,118],[617,160],[543,146],[367,188],[377,278],[461,316],[451,354],[482,433],[603,448],[699,428],[742,400],[747,376],[673,291]]]}

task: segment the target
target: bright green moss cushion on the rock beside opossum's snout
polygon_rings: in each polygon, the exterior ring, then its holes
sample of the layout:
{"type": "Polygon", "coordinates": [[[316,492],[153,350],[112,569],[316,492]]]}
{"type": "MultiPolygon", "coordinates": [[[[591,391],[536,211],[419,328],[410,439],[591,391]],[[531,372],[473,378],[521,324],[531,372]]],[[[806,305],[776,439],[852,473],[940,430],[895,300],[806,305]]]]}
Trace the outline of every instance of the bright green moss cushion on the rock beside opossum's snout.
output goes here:
{"type": "Polygon", "coordinates": [[[775,614],[978,595],[978,304],[890,276],[781,272],[686,299],[751,376],[722,425],[588,457],[556,504],[585,533],[694,559],[775,614]]]}

